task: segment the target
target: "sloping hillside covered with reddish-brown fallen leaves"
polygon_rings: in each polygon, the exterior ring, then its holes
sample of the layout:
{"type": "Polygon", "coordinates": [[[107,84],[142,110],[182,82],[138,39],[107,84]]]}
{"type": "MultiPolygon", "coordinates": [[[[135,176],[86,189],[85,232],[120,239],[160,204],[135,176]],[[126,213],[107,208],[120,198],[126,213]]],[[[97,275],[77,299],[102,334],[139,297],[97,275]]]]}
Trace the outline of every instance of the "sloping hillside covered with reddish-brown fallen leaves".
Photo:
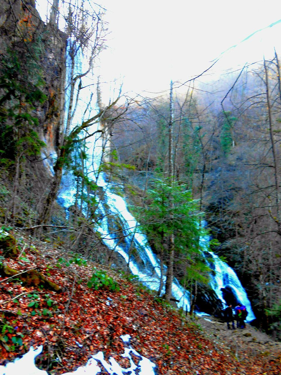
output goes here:
{"type": "MultiPolygon", "coordinates": [[[[73,371],[97,351],[126,367],[120,335],[129,334],[132,347],[155,363],[159,375],[281,373],[280,347],[269,346],[261,355],[245,344],[243,356],[236,358],[235,345],[220,333],[214,336],[208,321],[201,318],[200,325],[186,319],[132,276],[86,263],[20,231],[9,233],[16,238],[19,255],[1,256],[0,365],[42,344],[36,364],[50,374],[73,371]],[[8,267],[22,274],[10,277],[8,267]],[[27,270],[40,272],[60,289],[26,277],[27,270]]],[[[240,343],[239,337],[234,340],[240,343]]]]}

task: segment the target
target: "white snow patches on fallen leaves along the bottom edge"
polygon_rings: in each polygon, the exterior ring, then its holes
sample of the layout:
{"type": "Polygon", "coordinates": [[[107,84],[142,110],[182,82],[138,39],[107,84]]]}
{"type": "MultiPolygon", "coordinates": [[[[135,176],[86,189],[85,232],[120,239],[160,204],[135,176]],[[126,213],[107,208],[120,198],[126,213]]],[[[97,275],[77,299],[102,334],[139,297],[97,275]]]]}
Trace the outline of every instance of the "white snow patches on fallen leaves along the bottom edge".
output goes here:
{"type": "MultiPolygon", "coordinates": [[[[131,338],[130,335],[122,335],[120,337],[124,343],[129,343],[131,338]]],[[[6,366],[0,366],[0,375],[48,375],[46,371],[39,370],[34,365],[35,357],[42,353],[42,350],[42,345],[36,350],[34,350],[33,347],[30,347],[28,353],[24,354],[24,356],[21,358],[15,359],[14,362],[7,363],[6,366]]],[[[152,363],[148,358],[141,356],[141,354],[135,351],[132,347],[125,348],[124,353],[121,354],[121,356],[129,359],[129,368],[124,369],[118,365],[113,357],[109,358],[109,363],[106,362],[103,353],[99,351],[99,353],[95,354],[88,360],[85,366],[81,366],[76,371],[67,372],[64,375],[96,375],[101,372],[99,363],[109,375],[155,375],[154,363],[152,363]],[[131,354],[139,357],[138,365],[133,362],[131,354]],[[136,373],[135,370],[138,372],[136,373]]]]}

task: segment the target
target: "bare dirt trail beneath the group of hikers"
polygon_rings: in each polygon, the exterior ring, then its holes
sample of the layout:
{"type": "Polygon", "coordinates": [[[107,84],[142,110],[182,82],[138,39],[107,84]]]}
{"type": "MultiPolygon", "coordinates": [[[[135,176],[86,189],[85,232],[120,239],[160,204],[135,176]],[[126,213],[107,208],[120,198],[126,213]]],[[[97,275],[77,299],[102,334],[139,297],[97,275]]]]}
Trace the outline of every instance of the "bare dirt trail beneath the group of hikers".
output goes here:
{"type": "Polygon", "coordinates": [[[202,329],[206,332],[217,347],[228,351],[239,361],[247,357],[268,357],[272,360],[281,360],[281,342],[273,341],[266,333],[246,324],[245,329],[227,329],[226,323],[210,316],[198,318],[202,329]]]}

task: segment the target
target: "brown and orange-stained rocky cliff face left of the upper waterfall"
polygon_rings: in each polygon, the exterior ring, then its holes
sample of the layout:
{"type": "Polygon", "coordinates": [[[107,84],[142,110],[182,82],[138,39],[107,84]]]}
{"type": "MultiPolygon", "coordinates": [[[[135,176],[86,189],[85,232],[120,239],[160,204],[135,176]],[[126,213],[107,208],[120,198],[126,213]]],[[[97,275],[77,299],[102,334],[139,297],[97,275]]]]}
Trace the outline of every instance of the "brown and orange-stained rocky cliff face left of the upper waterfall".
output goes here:
{"type": "Polygon", "coordinates": [[[37,60],[47,99],[33,112],[39,120],[37,131],[47,145],[44,154],[48,157],[59,145],[63,126],[66,35],[58,30],[55,22],[45,24],[41,20],[34,0],[12,3],[3,0],[0,14],[1,57],[7,55],[7,51],[17,51],[19,58],[22,52],[29,53],[34,62],[37,60]],[[36,48],[31,48],[34,43],[36,48]]]}

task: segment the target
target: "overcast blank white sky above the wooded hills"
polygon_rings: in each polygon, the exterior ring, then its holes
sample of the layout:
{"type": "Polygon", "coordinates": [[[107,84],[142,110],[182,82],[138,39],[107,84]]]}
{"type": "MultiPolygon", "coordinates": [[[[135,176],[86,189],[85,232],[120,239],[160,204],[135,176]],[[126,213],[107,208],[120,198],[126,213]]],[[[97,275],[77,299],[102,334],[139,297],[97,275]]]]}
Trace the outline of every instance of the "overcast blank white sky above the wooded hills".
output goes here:
{"type": "MultiPolygon", "coordinates": [[[[46,3],[46,0],[37,0],[46,3]]],[[[157,92],[198,75],[233,45],[281,19],[281,0],[100,0],[111,33],[101,58],[105,81],[157,92]]],[[[214,72],[281,54],[281,24],[223,54],[214,72]]]]}

